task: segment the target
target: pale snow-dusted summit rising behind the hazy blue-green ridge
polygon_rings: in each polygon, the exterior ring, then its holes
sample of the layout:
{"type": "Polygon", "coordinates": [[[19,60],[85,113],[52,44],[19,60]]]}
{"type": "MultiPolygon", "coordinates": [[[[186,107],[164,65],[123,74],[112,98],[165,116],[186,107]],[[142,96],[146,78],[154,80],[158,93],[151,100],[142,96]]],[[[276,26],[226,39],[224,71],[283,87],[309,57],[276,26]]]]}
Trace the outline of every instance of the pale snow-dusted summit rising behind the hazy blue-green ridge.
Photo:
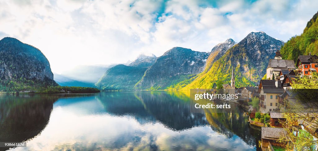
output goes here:
{"type": "Polygon", "coordinates": [[[154,54],[151,54],[151,56],[146,56],[144,54],[141,54],[137,57],[135,61],[131,62],[128,66],[149,67],[155,63],[156,59],[157,57],[154,54]]]}

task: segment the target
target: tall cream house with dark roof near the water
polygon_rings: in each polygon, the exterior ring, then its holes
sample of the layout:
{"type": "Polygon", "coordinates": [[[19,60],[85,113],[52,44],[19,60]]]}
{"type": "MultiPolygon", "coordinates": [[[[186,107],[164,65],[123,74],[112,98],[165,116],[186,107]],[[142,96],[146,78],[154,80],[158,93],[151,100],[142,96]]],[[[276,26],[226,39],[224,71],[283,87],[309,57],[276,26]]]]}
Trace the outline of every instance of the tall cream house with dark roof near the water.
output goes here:
{"type": "Polygon", "coordinates": [[[278,95],[284,93],[280,81],[275,80],[260,80],[258,93],[259,97],[259,111],[267,113],[278,108],[278,95]]]}

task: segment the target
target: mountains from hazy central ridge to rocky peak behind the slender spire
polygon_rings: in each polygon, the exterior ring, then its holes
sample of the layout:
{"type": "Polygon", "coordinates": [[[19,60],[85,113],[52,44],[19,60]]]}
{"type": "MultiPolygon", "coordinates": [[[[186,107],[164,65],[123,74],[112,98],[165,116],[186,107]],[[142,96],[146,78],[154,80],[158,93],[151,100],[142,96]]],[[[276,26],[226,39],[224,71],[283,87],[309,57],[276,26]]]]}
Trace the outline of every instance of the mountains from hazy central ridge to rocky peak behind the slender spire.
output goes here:
{"type": "Polygon", "coordinates": [[[239,43],[231,38],[219,43],[210,53],[174,47],[156,59],[139,56],[129,66],[117,65],[95,85],[105,90],[212,88],[218,80],[230,81],[233,66],[237,87],[254,86],[283,44],[264,32],[251,32],[239,43]]]}

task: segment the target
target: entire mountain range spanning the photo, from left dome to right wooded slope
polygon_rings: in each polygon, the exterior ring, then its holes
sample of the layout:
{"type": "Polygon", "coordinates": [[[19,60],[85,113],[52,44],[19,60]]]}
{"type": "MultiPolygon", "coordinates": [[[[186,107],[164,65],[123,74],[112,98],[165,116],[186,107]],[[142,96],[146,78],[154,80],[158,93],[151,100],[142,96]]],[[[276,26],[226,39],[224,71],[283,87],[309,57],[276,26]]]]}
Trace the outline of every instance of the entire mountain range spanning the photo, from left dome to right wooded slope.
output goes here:
{"type": "MultiPolygon", "coordinates": [[[[212,88],[219,80],[230,82],[232,67],[236,87],[254,86],[265,75],[269,59],[281,48],[285,59],[318,53],[318,13],[303,34],[287,43],[264,32],[251,32],[239,43],[231,38],[210,53],[174,47],[162,56],[140,55],[118,65],[78,66],[56,75],[60,85],[97,87],[103,90],[212,88]],[[94,84],[95,83],[95,84],[94,84]]],[[[0,41],[0,91],[55,86],[49,61],[37,48],[6,37],[0,41]]]]}

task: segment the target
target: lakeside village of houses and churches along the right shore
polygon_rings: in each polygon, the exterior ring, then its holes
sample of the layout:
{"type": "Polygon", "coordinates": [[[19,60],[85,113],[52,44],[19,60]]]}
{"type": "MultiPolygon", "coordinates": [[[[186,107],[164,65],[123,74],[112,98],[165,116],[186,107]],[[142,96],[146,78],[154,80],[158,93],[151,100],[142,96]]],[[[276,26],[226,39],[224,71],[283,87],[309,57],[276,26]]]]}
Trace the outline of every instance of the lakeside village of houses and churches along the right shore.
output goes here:
{"type": "Polygon", "coordinates": [[[248,110],[251,128],[261,131],[259,147],[263,151],[299,150],[297,146],[289,146],[289,148],[287,146],[289,142],[294,141],[290,137],[297,139],[300,133],[308,134],[307,138],[312,142],[306,150],[317,150],[318,118],[315,114],[317,112],[302,111],[311,106],[299,103],[296,97],[297,92],[293,91],[293,82],[299,77],[311,78],[317,70],[318,56],[300,55],[295,63],[294,60],[282,59],[279,50],[274,59],[269,60],[266,76],[264,76],[266,78],[260,80],[257,87],[235,88],[235,76],[232,69],[231,83],[223,84],[224,93],[239,95],[239,99],[231,101],[248,110]],[[257,107],[251,105],[252,100],[258,101],[257,107]],[[286,115],[291,105],[301,110],[290,114],[294,115],[290,116],[291,118],[295,117],[292,123],[287,122],[290,119],[287,120],[289,117],[286,115]]]}

